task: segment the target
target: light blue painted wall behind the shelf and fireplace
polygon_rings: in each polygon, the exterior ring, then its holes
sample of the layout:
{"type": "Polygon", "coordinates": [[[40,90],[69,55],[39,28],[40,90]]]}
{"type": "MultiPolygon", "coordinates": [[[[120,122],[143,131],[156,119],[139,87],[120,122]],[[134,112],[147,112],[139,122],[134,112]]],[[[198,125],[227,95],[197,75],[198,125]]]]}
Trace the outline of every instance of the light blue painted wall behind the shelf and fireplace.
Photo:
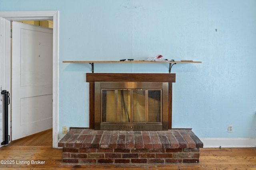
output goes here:
{"type": "MultiPolygon", "coordinates": [[[[0,11],[14,10],[60,11],[59,137],[62,126],[89,126],[90,65],[62,61],[156,54],[202,61],[172,68],[173,127],[201,138],[256,137],[255,0],[0,0],[0,11]]],[[[94,71],[168,73],[168,64],[95,64],[94,71]]]]}

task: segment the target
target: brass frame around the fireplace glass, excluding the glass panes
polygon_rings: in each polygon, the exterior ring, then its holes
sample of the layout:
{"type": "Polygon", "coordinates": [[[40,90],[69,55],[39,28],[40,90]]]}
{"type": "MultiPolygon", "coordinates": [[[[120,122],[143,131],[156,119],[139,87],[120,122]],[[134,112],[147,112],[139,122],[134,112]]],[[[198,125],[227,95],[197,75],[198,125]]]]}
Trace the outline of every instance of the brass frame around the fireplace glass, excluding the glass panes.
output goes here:
{"type": "Polygon", "coordinates": [[[95,130],[168,130],[168,82],[95,82],[94,88],[94,129],[95,130]],[[102,123],[102,89],[161,90],[161,121],[156,123],[102,123]]]}

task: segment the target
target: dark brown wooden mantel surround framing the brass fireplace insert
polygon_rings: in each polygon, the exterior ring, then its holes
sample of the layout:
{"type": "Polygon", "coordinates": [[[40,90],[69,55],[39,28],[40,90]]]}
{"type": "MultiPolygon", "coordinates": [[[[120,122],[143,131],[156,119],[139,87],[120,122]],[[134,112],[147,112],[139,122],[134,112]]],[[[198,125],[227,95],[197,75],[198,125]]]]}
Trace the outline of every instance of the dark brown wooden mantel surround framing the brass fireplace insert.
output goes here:
{"type": "Polygon", "coordinates": [[[172,83],[176,74],[164,73],[86,73],[90,83],[90,129],[94,129],[94,82],[168,82],[168,129],[172,129],[172,83]]]}

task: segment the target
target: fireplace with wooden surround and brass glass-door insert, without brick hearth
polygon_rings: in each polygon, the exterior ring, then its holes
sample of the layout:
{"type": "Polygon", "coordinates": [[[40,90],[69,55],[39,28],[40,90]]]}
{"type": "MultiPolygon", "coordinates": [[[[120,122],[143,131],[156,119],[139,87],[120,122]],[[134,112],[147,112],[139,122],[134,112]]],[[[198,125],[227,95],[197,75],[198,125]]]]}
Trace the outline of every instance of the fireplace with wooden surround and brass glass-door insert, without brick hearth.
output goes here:
{"type": "Polygon", "coordinates": [[[90,129],[167,130],[175,74],[88,73],[90,129]]]}

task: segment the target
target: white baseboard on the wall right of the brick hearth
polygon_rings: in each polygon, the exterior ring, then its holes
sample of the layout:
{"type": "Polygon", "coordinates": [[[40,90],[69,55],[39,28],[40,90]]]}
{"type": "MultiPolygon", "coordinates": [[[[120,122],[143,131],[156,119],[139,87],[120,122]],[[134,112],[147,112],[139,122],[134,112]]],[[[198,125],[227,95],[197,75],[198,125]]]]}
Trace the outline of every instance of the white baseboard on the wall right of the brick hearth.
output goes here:
{"type": "Polygon", "coordinates": [[[256,138],[200,138],[204,148],[254,148],[256,138]]]}

